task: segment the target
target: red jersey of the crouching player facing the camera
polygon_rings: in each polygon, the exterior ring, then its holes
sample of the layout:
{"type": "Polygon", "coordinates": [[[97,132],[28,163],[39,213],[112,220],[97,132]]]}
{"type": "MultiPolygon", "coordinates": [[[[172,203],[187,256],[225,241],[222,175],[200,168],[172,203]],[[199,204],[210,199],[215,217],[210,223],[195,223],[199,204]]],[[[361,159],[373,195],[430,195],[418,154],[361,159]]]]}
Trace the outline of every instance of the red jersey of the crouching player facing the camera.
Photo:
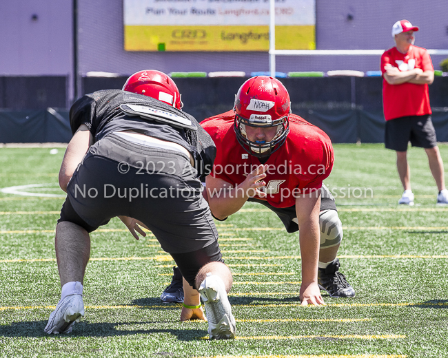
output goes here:
{"type": "MultiPolygon", "coordinates": [[[[235,185],[241,184],[262,163],[251,156],[236,140],[233,111],[207,118],[201,126],[216,145],[216,159],[210,175],[235,185]]],[[[289,134],[280,149],[269,156],[261,189],[269,204],[277,208],[292,207],[296,197],[322,187],[332,171],[334,153],[327,134],[295,114],[289,115],[289,134]]]]}

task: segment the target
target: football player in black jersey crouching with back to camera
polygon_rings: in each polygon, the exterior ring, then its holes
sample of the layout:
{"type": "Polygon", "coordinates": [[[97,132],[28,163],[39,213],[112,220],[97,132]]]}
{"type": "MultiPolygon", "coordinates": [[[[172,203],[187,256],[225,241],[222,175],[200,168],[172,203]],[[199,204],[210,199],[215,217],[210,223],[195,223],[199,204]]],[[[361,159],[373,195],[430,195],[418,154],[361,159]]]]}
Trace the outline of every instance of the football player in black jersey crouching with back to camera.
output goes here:
{"type": "Polygon", "coordinates": [[[86,94],[72,105],[73,138],[59,172],[67,198],[55,240],[62,293],[45,333],[70,333],[83,317],[89,233],[118,216],[137,240],[145,235],[141,226],[150,229],[179,266],[181,320],[204,319],[201,294],[210,338],[234,338],[232,273],[201,193],[216,147],[181,106],[174,81],[154,70],[136,72],[123,90],[86,94]]]}

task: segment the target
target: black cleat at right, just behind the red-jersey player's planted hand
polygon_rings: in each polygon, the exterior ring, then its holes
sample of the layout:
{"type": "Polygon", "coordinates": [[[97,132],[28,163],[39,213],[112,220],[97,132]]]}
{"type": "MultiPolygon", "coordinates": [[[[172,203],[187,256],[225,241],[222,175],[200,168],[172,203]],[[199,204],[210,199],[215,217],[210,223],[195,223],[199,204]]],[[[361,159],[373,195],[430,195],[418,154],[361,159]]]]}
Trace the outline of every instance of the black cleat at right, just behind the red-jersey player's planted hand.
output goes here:
{"type": "Polygon", "coordinates": [[[339,259],[336,259],[327,268],[318,269],[319,288],[327,291],[329,297],[355,297],[355,290],[347,282],[345,275],[339,272],[339,267],[339,259]]]}

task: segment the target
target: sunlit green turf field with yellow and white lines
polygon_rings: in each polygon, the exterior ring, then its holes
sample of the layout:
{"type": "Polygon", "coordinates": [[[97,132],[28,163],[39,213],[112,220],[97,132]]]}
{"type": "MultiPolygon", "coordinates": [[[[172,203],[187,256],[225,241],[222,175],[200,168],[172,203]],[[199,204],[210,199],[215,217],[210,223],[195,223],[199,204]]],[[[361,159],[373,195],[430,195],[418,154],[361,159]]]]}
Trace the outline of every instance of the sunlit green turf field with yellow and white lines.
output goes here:
{"type": "MultiPolygon", "coordinates": [[[[298,233],[261,205],[216,222],[234,273],[232,341],[210,341],[207,323],[179,322],[181,305],[161,304],[174,262],[117,219],[91,235],[85,317],[70,335],[43,333],[60,297],[54,228],[64,200],[64,149],[50,149],[0,149],[0,357],[448,357],[448,207],[436,207],[423,149],[409,149],[416,204],[399,207],[394,152],[334,145],[325,184],[355,298],[324,294],[327,306],[301,307],[298,233]]],[[[448,145],[440,151],[448,167],[448,145]]]]}

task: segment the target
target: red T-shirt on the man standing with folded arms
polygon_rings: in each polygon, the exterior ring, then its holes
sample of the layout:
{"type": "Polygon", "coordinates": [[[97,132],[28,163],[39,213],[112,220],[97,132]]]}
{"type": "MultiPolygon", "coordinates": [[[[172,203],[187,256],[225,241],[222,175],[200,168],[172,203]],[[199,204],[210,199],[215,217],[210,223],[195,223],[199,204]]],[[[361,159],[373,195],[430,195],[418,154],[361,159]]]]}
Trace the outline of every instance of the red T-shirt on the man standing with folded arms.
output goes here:
{"type": "MultiPolygon", "coordinates": [[[[424,48],[411,45],[407,54],[402,54],[397,48],[391,48],[381,56],[381,72],[385,74],[385,65],[398,67],[400,71],[420,68],[422,71],[434,71],[431,57],[424,48]]],[[[386,120],[404,116],[423,116],[431,114],[429,105],[428,85],[402,83],[389,85],[383,79],[383,108],[386,120]]]]}

